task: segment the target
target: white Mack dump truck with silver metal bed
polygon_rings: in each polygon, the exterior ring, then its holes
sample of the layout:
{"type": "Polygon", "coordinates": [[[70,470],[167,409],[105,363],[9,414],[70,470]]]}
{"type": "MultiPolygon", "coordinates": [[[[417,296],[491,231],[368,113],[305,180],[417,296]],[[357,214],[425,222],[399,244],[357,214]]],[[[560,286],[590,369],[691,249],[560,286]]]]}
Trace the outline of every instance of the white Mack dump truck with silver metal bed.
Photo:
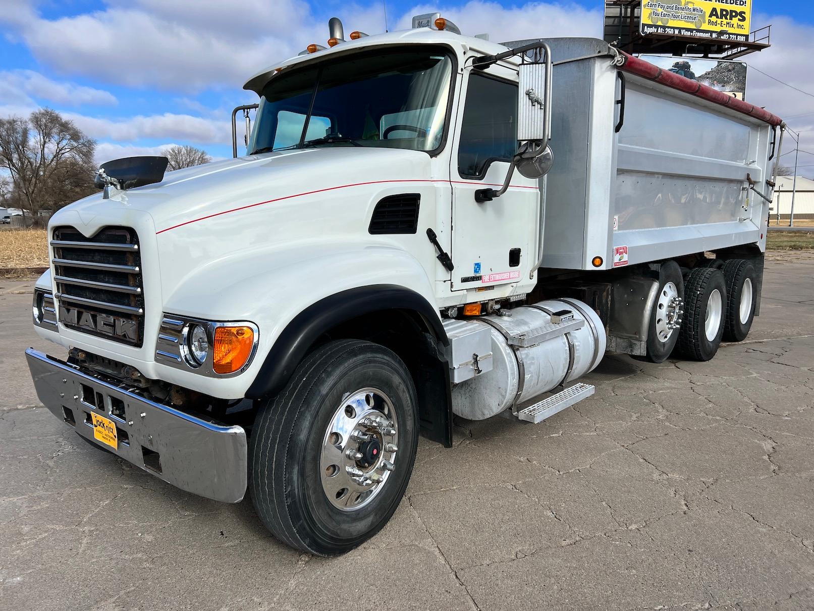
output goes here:
{"type": "Polygon", "coordinates": [[[453,415],[537,423],[608,352],[706,361],[759,313],[784,127],[764,109],[599,40],[497,44],[438,14],[331,20],[246,89],[245,156],[111,161],[54,214],[33,323],[68,356],[27,357],[87,442],[250,493],[292,547],[373,536],[453,415]]]}

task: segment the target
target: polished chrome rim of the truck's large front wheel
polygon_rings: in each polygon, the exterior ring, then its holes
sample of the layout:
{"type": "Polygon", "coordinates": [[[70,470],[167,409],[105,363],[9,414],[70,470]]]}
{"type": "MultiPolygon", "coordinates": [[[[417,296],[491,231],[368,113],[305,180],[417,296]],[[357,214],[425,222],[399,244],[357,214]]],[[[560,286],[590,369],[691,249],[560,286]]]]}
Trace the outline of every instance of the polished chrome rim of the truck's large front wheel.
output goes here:
{"type": "Polygon", "coordinates": [[[387,394],[349,393],[322,438],[322,490],[335,508],[357,511],[376,498],[396,467],[398,420],[387,394]]]}

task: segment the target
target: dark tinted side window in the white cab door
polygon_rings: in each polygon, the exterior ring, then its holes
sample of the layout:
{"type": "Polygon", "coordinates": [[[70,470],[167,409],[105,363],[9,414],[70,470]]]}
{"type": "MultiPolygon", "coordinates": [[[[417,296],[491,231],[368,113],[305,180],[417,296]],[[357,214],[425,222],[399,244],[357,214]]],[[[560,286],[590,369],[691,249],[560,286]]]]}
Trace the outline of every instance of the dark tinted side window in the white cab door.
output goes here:
{"type": "Polygon", "coordinates": [[[472,73],[458,143],[458,174],[484,178],[492,161],[510,161],[517,147],[517,84],[472,73]]]}

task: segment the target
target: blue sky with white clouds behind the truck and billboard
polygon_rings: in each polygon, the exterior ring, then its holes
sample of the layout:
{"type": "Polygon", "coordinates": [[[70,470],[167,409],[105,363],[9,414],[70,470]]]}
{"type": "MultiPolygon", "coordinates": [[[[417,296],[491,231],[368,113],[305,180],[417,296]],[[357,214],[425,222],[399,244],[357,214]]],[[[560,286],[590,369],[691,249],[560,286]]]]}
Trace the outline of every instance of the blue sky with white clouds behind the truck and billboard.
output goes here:
{"type": "MultiPolygon", "coordinates": [[[[492,40],[601,36],[602,4],[387,0],[387,18],[403,29],[411,15],[440,10],[492,40]]],[[[811,5],[753,0],[752,29],[772,24],[773,44],[746,61],[814,94],[811,5]]],[[[381,0],[2,0],[0,116],[55,108],[98,140],[99,160],[172,143],[230,156],[230,110],[255,101],[243,82],[310,42],[324,44],[332,15],[346,31],[384,29],[381,0]]],[[[756,70],[747,96],[802,131],[801,149],[814,153],[814,96],[756,70]]],[[[799,164],[814,175],[814,154],[801,153],[799,164]]]]}

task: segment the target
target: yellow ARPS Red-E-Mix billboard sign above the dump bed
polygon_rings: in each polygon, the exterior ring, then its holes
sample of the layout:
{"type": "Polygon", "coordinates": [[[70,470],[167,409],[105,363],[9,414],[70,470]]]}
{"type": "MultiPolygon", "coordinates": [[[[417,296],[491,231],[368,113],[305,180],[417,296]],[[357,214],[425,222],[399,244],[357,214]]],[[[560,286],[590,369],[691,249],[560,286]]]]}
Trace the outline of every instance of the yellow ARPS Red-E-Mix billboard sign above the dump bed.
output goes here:
{"type": "Polygon", "coordinates": [[[752,0],[642,0],[639,32],[746,41],[751,14],[752,0]]]}

